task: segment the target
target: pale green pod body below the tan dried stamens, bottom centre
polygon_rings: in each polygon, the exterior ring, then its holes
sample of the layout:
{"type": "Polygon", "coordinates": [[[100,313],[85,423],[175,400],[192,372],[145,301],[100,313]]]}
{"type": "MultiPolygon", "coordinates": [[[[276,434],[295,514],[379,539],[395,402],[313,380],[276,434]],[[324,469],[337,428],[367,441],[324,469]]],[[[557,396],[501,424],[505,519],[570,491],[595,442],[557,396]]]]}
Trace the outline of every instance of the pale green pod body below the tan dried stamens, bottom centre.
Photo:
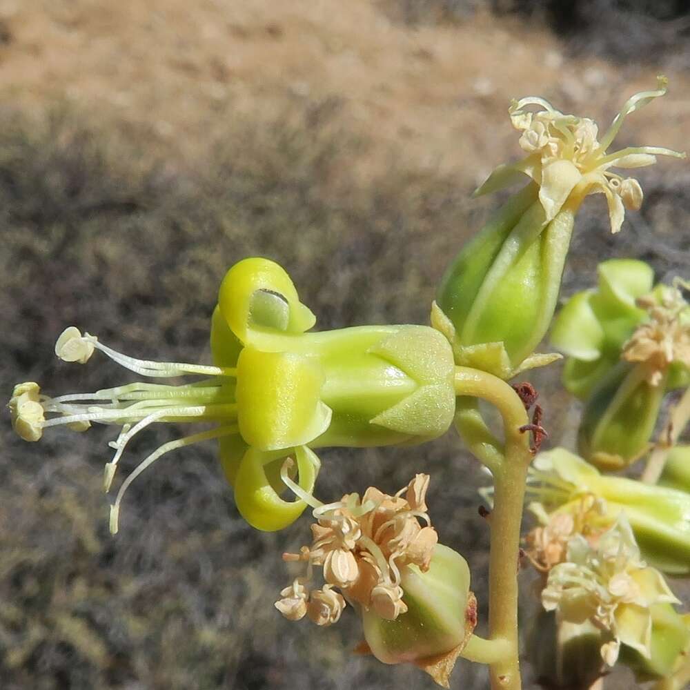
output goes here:
{"type": "Polygon", "coordinates": [[[401,571],[406,613],[386,620],[373,607],[362,610],[368,649],[385,664],[417,664],[448,687],[452,664],[476,623],[476,602],[469,584],[464,558],[437,544],[428,571],[423,573],[417,566],[401,571]],[[449,658],[450,669],[437,675],[434,669],[442,668],[449,658]]]}

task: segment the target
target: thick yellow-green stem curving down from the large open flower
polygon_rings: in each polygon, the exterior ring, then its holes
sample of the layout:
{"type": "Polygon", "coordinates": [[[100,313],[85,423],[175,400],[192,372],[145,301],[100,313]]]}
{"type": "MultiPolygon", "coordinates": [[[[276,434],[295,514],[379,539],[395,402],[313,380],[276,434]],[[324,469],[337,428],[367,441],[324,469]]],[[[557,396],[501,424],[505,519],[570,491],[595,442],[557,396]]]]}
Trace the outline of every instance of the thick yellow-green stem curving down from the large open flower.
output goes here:
{"type": "Polygon", "coordinates": [[[490,662],[489,669],[493,690],[520,690],[517,568],[524,489],[532,459],[529,435],[520,431],[520,427],[528,424],[529,419],[522,400],[510,384],[489,373],[457,367],[455,392],[458,396],[480,397],[490,402],[503,419],[504,457],[491,467],[494,509],[489,521],[489,642],[504,649],[490,662]]]}

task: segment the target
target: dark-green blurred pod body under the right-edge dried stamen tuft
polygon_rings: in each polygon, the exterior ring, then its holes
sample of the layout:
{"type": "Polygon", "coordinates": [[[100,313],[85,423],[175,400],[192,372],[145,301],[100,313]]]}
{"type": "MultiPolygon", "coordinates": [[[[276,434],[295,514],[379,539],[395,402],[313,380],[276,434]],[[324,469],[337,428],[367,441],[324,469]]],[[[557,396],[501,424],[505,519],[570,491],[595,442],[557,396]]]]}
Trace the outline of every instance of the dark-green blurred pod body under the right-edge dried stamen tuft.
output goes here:
{"type": "Polygon", "coordinates": [[[651,384],[640,365],[620,362],[609,370],[584,405],[578,430],[582,457],[606,471],[642,457],[659,416],[664,384],[665,376],[651,384]]]}

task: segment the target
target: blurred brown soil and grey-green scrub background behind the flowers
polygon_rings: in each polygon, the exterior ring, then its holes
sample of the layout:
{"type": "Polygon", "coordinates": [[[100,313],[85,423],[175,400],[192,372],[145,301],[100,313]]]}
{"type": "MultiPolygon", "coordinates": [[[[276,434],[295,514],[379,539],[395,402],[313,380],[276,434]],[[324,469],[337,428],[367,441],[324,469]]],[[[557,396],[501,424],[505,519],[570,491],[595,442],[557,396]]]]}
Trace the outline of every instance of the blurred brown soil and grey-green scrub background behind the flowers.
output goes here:
{"type": "MultiPolygon", "coordinates": [[[[689,35],[681,0],[0,0],[2,390],[126,380],[103,357],[58,362],[70,324],[135,356],[208,362],[217,287],[247,255],[281,262],[320,328],[425,323],[446,262],[497,203],[471,190],[517,155],[510,99],[605,122],[663,71],[671,93],[621,143],[687,148],[689,35]]],[[[687,277],[690,172],[640,177],[647,199],[618,237],[603,199],[586,204],[564,295],[609,256],[687,277]]],[[[531,377],[552,442],[577,413],[559,375],[531,377]]],[[[141,477],[111,538],[114,433],[29,445],[3,414],[3,690],[433,687],[354,656],[353,615],[325,630],[279,616],[280,554],[306,542],[306,521],[248,528],[212,444],[141,477]]],[[[137,438],[126,468],[174,435],[137,438]]],[[[431,515],[471,562],[485,615],[486,480],[452,433],[322,459],[327,499],[431,473],[431,515]]],[[[461,662],[453,687],[486,678],[461,662]]]]}

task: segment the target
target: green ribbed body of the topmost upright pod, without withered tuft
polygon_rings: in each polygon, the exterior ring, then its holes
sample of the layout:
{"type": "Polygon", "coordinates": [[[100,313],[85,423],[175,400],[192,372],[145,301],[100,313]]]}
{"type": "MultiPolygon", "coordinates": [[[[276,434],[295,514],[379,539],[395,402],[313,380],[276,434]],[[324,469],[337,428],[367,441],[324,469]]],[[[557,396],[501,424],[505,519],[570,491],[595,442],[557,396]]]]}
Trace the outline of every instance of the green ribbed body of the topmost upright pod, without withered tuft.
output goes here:
{"type": "Polygon", "coordinates": [[[575,210],[547,220],[531,184],[457,255],[436,298],[457,364],[509,378],[553,361],[531,355],[553,316],[575,210]]]}

